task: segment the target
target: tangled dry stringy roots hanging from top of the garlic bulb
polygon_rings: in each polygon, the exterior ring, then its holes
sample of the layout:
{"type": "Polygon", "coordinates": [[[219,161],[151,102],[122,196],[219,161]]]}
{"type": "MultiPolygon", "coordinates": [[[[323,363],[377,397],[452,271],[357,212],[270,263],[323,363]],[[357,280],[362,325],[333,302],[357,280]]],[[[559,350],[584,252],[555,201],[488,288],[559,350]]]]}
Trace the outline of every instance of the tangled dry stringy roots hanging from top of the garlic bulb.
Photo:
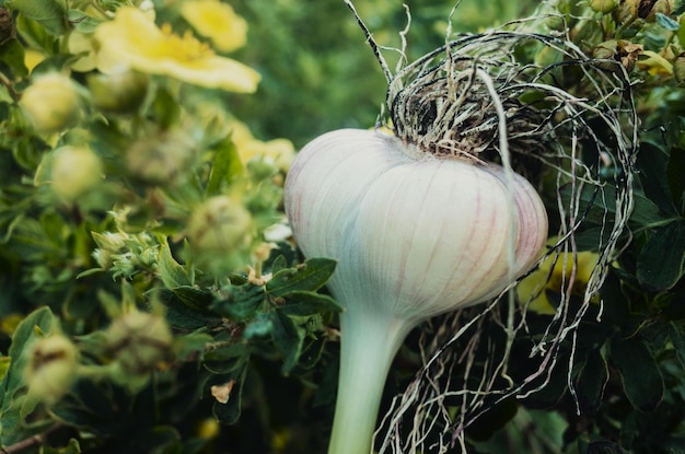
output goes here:
{"type": "MultiPolygon", "coordinates": [[[[557,289],[561,301],[546,329],[534,336],[530,333],[526,312],[535,295],[513,304],[509,292],[516,282],[485,309],[431,321],[423,327],[430,335],[419,342],[423,368],[395,398],[376,432],[380,454],[446,453],[456,446],[465,452],[467,427],[503,399],[537,393],[557,368],[567,368],[573,393],[578,328],[611,264],[629,241],[625,226],[632,211],[638,145],[634,82],[620,61],[588,57],[567,36],[568,30],[538,33],[539,24],[550,16],[564,23],[554,13],[456,39],[449,32],[444,46],[393,74],[383,58],[384,48],[373,40],[350,0],[345,1],[388,81],[387,124],[398,137],[428,153],[475,162],[504,164],[511,153],[514,170],[534,183],[543,174],[553,175],[556,194],[545,196],[557,199],[558,220],[553,223],[559,225],[558,241],[539,264],[547,258],[571,263],[562,267],[557,289]],[[607,171],[615,178],[604,177],[607,171]],[[599,258],[581,304],[572,305],[577,235],[595,200],[611,209],[604,209],[603,234],[594,245],[599,258]],[[508,307],[500,302],[507,298],[508,307]],[[529,338],[529,356],[537,365],[514,381],[508,362],[512,344],[522,337],[529,338]],[[569,345],[567,362],[560,363],[559,353],[569,345]]],[[[406,32],[403,48],[394,49],[403,56],[400,62],[405,61],[406,32]]],[[[595,316],[601,316],[601,306],[595,316]]]]}

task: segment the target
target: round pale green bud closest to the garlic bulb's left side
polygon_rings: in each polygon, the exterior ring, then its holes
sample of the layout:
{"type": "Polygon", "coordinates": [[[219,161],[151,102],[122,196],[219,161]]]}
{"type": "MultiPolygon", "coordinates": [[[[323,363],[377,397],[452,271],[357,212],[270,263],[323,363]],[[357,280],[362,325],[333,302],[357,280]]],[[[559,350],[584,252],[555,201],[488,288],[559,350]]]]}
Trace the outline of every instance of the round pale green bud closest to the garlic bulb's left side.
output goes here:
{"type": "Polygon", "coordinates": [[[195,209],[188,236],[199,251],[231,252],[245,243],[251,224],[249,212],[243,206],[217,196],[195,209]]]}

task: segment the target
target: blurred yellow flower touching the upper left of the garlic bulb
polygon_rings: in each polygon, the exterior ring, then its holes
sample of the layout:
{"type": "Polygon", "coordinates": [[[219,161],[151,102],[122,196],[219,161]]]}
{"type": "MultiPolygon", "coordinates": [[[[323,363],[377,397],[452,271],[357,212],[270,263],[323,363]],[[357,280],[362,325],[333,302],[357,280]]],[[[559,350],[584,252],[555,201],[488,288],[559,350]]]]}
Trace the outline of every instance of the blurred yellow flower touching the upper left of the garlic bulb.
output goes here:
{"type": "Polygon", "coordinates": [[[255,139],[245,124],[234,120],[231,123],[231,139],[235,143],[237,154],[243,164],[254,159],[266,159],[287,172],[294,159],[295,150],[288,139],[274,139],[266,142],[255,139]]]}

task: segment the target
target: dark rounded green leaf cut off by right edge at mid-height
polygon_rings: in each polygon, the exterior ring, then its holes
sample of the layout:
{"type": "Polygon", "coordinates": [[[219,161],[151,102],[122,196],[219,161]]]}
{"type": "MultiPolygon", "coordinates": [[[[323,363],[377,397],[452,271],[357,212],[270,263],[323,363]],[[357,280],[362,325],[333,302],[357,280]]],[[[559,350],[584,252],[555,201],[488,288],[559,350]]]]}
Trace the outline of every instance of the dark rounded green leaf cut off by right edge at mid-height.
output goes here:
{"type": "Polygon", "coordinates": [[[637,278],[649,290],[670,289],[683,277],[685,220],[657,230],[637,260],[637,278]]]}

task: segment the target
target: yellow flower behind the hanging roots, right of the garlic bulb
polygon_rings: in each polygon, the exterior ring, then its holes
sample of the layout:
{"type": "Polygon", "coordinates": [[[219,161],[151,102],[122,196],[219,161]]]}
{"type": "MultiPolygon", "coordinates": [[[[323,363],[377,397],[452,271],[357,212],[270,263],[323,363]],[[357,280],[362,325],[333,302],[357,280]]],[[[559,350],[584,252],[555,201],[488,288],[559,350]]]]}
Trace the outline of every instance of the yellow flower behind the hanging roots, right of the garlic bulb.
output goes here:
{"type": "MultiPolygon", "coordinates": [[[[556,241],[556,238],[550,238],[548,244],[554,245],[556,241]]],[[[576,268],[576,277],[571,289],[572,294],[582,295],[584,293],[597,258],[599,255],[591,252],[576,254],[578,267],[576,268]]],[[[558,257],[554,254],[550,255],[537,270],[519,283],[516,287],[519,301],[521,304],[526,304],[531,300],[527,306],[530,311],[539,314],[554,314],[556,304],[549,301],[547,292],[560,293],[561,286],[568,286],[572,269],[573,255],[571,253],[560,253],[558,257]],[[553,264],[554,269],[552,269],[553,264]]]]}

